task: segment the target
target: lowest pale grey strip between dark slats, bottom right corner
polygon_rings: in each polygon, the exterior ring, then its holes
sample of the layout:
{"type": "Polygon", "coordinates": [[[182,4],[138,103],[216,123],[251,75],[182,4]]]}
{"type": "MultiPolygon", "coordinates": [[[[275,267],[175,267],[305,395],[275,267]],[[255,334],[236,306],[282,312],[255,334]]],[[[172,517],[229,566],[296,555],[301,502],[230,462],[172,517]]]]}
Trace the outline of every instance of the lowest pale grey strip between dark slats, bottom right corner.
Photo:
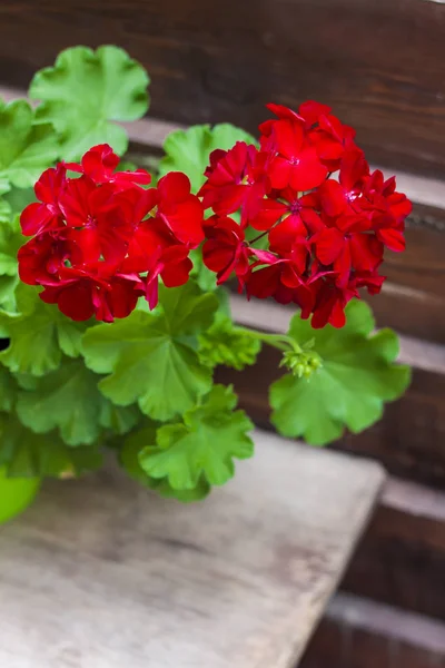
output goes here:
{"type": "Polygon", "coordinates": [[[326,617],[353,629],[374,632],[433,654],[445,654],[445,625],[423,615],[337,593],[327,608],[326,617]]]}

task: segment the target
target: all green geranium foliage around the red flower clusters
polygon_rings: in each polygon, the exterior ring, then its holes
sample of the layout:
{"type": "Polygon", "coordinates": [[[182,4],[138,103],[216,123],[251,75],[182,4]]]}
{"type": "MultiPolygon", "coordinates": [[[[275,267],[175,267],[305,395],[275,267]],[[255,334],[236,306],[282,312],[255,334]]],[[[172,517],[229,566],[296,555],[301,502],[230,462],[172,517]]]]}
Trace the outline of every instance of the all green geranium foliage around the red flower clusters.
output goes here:
{"type": "MultiPolygon", "coordinates": [[[[394,363],[395,334],[373,334],[370,311],[359,302],[349,304],[339,331],[314,331],[298,315],[289,336],[234,325],[201,248],[191,253],[187,285],[161,286],[154,312],[140,299],[113,324],[72,322],[39,298],[40,288],[19,283],[24,238],[16,214],[34,199],[34,181],[58,158],[77,160],[96,144],[122,155],[128,138],[117,124],[144,116],[148,84],[123,50],[75,47],[33,78],[36,110],[24,100],[0,101],[0,338],[7,345],[0,468],[16,477],[78,475],[100,465],[106,444],[146,488],[189,502],[227,482],[234,460],[254,452],[253,424],[236,410],[231,387],[212,385],[217,365],[254,364],[261,341],[280,350],[290,373],[270,389],[273,421],[283,434],[314,444],[378,420],[384,402],[407,386],[409,370],[394,363]]],[[[185,171],[197,193],[210,153],[238,140],[256,144],[229,124],[195,126],[172,132],[165,157],[147,165],[157,177],[185,171]]],[[[257,236],[246,229],[246,238],[257,236]]]]}

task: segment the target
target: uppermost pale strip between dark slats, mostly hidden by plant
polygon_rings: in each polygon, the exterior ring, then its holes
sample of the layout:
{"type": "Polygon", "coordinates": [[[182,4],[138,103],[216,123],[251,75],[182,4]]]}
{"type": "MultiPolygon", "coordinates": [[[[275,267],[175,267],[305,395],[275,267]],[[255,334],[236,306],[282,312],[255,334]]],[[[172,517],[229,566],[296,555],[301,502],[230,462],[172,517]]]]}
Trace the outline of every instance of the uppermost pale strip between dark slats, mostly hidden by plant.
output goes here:
{"type": "MultiPolygon", "coordinates": [[[[26,91],[0,86],[0,97],[6,101],[26,97],[26,91]]],[[[224,118],[221,118],[224,121],[224,118]]],[[[146,146],[160,147],[167,135],[172,130],[185,129],[186,126],[174,124],[157,118],[144,118],[134,122],[122,122],[131,141],[146,146]]],[[[373,169],[377,168],[376,165],[373,169]]],[[[385,171],[384,167],[378,167],[385,171]]],[[[397,171],[397,187],[418,204],[445,208],[445,184],[438,179],[414,176],[405,171],[397,171]]]]}

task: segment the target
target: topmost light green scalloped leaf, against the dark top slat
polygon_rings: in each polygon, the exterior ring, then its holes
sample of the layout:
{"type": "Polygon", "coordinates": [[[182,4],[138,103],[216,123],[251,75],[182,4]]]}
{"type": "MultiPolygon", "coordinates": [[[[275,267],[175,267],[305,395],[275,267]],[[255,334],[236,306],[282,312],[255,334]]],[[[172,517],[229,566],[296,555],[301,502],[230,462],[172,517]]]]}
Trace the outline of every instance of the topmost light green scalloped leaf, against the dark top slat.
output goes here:
{"type": "Polygon", "coordinates": [[[73,47],[62,51],[53,67],[37,72],[30,98],[41,100],[40,121],[53,122],[60,132],[66,160],[77,160],[103,143],[122,155],[127,132],[110,121],[141,118],[148,109],[148,84],[146,70],[118,47],[73,47]]]}

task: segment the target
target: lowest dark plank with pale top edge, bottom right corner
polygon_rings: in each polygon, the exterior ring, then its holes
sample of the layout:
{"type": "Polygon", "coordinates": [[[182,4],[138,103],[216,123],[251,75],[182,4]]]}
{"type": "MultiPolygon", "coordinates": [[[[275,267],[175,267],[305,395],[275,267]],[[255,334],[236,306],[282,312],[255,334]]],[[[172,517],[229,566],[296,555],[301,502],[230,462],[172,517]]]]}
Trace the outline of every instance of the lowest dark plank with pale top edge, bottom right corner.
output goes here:
{"type": "Polygon", "coordinates": [[[299,668],[444,668],[445,625],[337,595],[299,668]]]}

